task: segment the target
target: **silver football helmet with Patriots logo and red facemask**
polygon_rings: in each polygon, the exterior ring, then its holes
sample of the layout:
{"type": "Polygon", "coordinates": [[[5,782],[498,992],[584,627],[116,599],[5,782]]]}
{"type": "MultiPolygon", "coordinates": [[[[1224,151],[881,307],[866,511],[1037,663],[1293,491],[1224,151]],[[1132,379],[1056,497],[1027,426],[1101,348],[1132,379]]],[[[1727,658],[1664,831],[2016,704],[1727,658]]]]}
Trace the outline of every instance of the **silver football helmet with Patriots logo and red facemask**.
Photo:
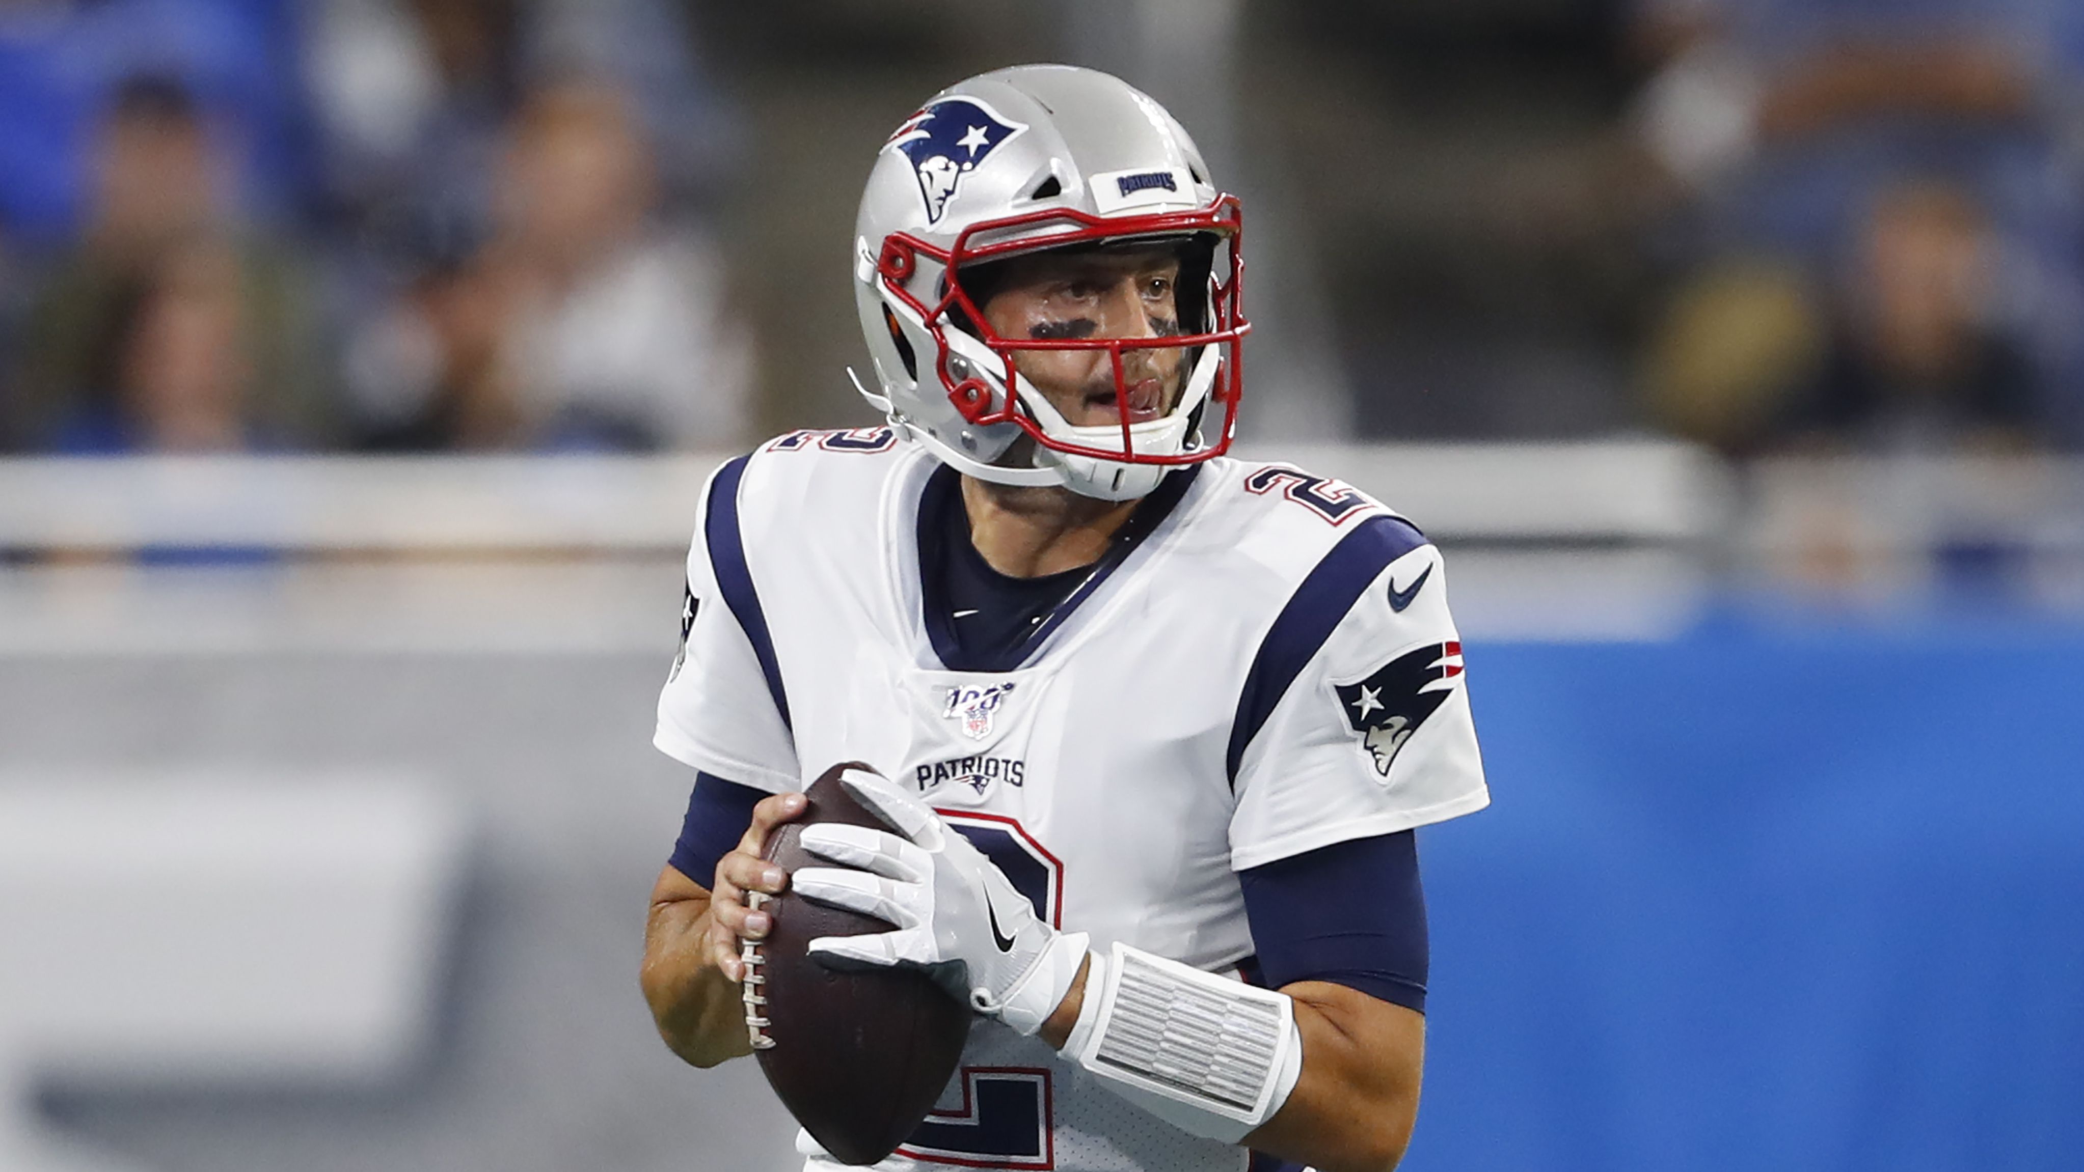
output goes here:
{"type": "Polygon", "coordinates": [[[890,135],[861,196],[854,302],[877,389],[854,385],[965,475],[1136,500],[1230,448],[1248,329],[1240,229],[1180,123],[1107,73],[1023,65],[950,85],[890,135]],[[1177,252],[1175,333],[1000,337],[965,287],[1013,256],[1107,248],[1177,252]],[[1117,423],[1067,421],[1017,368],[1036,350],[1105,352],[1117,423]],[[1136,350],[1180,354],[1155,418],[1132,418],[1152,414],[1130,410],[1136,350]]]}

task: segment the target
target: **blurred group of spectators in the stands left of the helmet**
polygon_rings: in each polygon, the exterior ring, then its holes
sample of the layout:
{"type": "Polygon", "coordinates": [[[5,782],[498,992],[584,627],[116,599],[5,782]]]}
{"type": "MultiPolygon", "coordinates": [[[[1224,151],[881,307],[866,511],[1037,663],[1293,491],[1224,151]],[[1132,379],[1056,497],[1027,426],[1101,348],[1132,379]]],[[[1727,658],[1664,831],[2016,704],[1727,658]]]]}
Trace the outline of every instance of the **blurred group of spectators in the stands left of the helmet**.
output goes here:
{"type": "Polygon", "coordinates": [[[661,0],[0,6],[8,443],[742,441],[706,48],[661,0]]]}

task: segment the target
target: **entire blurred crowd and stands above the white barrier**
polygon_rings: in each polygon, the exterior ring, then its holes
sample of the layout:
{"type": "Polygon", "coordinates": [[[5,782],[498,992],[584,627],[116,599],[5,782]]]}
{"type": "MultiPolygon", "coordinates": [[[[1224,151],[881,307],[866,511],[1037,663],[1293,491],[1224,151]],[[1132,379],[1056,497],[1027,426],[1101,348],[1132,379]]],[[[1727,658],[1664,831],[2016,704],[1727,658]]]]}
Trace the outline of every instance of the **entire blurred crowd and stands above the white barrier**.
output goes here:
{"type": "Polygon", "coordinates": [[[0,441],[648,452],[854,423],[842,258],[882,135],[1050,58],[1159,90],[1269,225],[1246,435],[1296,371],[1305,431],[1342,439],[2084,441],[2078,4],[1136,10],[10,0],[0,441]],[[1167,71],[1211,21],[1215,69],[1167,71]]]}

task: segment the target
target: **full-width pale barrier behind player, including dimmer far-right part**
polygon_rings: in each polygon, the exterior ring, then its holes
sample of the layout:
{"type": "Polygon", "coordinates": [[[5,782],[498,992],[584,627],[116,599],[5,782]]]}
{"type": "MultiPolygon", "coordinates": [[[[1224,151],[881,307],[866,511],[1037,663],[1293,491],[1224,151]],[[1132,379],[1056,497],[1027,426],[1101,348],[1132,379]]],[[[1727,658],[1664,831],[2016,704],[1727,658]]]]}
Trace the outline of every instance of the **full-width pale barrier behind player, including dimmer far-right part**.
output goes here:
{"type": "MultiPolygon", "coordinates": [[[[1478,639],[1661,639],[1719,589],[1894,606],[1976,572],[2084,610],[2078,460],[1773,458],[1740,493],[1719,458],[1657,439],[1238,456],[1344,479],[1411,516],[1448,547],[1455,612],[1478,639]]],[[[719,458],[0,460],[0,550],[46,554],[0,566],[0,656],[669,658],[677,564],[719,458]],[[288,556],[127,558],[213,545],[288,556]]]]}

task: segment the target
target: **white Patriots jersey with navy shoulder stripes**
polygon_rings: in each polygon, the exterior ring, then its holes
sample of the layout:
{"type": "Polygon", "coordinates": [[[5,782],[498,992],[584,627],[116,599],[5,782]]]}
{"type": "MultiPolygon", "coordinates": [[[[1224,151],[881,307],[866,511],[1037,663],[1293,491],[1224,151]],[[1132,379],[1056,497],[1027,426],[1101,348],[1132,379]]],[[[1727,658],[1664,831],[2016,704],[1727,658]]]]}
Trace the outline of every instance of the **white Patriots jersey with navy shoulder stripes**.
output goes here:
{"type": "MultiPolygon", "coordinates": [[[[959,672],[921,597],[936,468],[888,429],[807,431],[711,479],[661,749],[767,791],[867,762],[1048,922],[1205,970],[1252,956],[1238,870],[1488,801],[1440,554],[1367,495],[1286,464],[1175,473],[1144,506],[1171,502],[1163,520],[1015,670],[959,672]]],[[[879,1168],[1244,1160],[979,1018],[936,1114],[879,1168]]]]}

